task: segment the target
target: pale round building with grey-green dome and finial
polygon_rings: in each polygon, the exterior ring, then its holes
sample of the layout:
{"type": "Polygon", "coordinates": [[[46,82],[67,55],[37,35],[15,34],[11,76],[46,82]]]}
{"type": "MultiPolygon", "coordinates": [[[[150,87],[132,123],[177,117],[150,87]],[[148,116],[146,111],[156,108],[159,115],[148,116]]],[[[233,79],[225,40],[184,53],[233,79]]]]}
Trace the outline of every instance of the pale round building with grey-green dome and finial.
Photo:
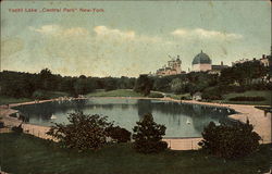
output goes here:
{"type": "Polygon", "coordinates": [[[202,50],[198,53],[191,62],[194,72],[205,72],[211,70],[211,59],[207,53],[203,53],[202,50]]]}

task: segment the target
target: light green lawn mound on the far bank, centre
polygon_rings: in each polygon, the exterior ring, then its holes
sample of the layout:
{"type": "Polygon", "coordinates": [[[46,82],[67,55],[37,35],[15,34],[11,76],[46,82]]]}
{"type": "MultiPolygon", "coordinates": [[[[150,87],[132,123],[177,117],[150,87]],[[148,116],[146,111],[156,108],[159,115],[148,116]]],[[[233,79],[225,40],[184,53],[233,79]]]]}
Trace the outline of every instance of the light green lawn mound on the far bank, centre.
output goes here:
{"type": "Polygon", "coordinates": [[[144,97],[144,95],[133,91],[132,89],[116,89],[110,91],[95,91],[86,97],[144,97]]]}

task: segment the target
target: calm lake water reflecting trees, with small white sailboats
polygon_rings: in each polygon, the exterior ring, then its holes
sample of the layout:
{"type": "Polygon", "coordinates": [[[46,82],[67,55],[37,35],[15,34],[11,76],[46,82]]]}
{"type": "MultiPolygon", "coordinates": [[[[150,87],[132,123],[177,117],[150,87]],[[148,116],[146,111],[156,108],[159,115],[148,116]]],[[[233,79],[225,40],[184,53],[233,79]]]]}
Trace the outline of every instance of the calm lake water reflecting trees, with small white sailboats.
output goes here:
{"type": "Polygon", "coordinates": [[[230,122],[226,117],[233,110],[199,104],[186,104],[160,100],[101,99],[46,102],[17,107],[29,123],[53,125],[67,123],[67,113],[83,111],[86,114],[109,116],[115,125],[132,132],[145,113],[152,113],[154,121],[166,126],[165,137],[199,137],[203,126],[230,122]],[[54,115],[55,119],[51,120],[54,115]]]}

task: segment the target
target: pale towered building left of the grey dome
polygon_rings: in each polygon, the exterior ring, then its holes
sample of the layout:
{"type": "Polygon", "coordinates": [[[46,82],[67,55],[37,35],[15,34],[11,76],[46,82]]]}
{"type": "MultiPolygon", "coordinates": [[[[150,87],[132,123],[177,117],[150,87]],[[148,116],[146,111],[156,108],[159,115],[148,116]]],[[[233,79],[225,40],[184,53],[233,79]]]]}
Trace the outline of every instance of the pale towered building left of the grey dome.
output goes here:
{"type": "MultiPolygon", "coordinates": [[[[171,57],[170,57],[171,58],[171,57]]],[[[157,70],[156,75],[158,76],[166,76],[166,75],[176,75],[182,74],[182,61],[180,55],[176,59],[172,58],[172,60],[168,61],[168,65],[157,70]]]]}

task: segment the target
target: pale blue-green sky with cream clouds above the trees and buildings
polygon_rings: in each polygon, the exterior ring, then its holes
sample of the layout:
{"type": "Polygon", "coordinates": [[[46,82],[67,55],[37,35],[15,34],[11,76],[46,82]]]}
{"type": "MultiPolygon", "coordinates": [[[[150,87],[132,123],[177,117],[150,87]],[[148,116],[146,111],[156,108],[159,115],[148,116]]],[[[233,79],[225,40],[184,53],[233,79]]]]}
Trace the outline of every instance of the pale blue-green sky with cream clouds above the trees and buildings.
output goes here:
{"type": "Polygon", "coordinates": [[[270,54],[271,2],[1,2],[1,71],[137,77],[176,55],[187,72],[201,50],[227,65],[270,54]]]}

